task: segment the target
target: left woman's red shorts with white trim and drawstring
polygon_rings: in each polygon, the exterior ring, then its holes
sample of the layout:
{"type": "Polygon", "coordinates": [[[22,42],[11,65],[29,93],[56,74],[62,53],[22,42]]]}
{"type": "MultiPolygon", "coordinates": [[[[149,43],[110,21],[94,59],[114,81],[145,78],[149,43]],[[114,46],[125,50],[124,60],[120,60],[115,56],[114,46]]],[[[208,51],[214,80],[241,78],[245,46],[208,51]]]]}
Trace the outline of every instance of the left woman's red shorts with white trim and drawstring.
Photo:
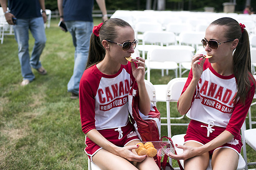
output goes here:
{"type": "MultiPolygon", "coordinates": [[[[126,126],[112,129],[98,130],[102,136],[116,146],[124,147],[127,143],[134,140],[140,140],[135,132],[134,126],[129,122],[126,126]],[[119,131],[118,131],[119,130],[119,131]]],[[[95,144],[91,139],[85,136],[85,153],[92,161],[92,156],[102,148],[95,144]]]]}

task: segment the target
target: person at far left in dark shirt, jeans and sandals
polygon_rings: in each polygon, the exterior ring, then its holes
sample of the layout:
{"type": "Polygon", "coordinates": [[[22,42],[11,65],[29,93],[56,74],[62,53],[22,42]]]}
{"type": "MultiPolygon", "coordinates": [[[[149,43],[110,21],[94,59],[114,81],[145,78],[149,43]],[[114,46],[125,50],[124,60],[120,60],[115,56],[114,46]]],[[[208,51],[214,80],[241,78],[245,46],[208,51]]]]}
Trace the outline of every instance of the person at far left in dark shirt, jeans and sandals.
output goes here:
{"type": "Polygon", "coordinates": [[[25,86],[35,79],[31,67],[36,69],[41,75],[47,73],[39,61],[46,44],[44,29],[44,23],[47,19],[45,1],[8,0],[9,10],[7,10],[7,0],[0,0],[0,4],[3,7],[7,22],[13,25],[15,39],[18,43],[18,56],[23,77],[21,86],[25,86]],[[40,10],[42,10],[42,14],[40,10]],[[35,38],[31,58],[29,54],[29,30],[35,38]]]}

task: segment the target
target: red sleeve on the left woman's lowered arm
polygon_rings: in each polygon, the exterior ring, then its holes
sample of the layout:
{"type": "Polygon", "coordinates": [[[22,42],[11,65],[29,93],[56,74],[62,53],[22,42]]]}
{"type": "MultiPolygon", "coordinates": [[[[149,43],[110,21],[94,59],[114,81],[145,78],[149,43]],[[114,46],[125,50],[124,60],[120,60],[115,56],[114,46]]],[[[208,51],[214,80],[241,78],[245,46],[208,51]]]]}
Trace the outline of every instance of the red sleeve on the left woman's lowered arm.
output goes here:
{"type": "Polygon", "coordinates": [[[95,95],[99,80],[95,80],[92,67],[85,70],[79,85],[80,117],[85,134],[95,128],[95,95]]]}

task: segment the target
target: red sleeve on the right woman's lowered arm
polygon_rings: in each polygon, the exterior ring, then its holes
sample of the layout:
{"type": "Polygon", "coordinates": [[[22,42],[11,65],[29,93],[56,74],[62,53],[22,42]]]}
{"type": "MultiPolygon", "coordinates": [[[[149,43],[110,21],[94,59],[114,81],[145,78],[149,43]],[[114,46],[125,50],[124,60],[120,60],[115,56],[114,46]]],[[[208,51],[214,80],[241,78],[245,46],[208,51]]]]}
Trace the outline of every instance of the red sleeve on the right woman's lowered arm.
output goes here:
{"type": "Polygon", "coordinates": [[[255,86],[253,84],[253,81],[255,83],[255,79],[250,79],[250,81],[251,88],[249,94],[246,97],[245,105],[243,105],[243,103],[241,103],[240,101],[237,102],[231,115],[230,121],[226,126],[226,131],[230,132],[235,137],[237,135],[240,135],[240,129],[242,128],[243,122],[246,119],[247,112],[249,110],[249,107],[251,106],[253,96],[255,94],[255,86]]]}

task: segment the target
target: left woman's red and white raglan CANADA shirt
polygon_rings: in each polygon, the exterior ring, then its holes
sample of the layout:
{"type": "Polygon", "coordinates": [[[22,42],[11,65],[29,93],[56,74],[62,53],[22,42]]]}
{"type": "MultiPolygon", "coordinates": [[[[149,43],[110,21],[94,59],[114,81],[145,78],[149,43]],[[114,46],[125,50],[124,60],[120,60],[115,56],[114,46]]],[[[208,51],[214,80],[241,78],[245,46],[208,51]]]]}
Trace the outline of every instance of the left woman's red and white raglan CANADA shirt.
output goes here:
{"type": "Polygon", "coordinates": [[[128,93],[135,82],[131,63],[118,73],[106,75],[96,65],[85,70],[80,80],[79,99],[82,131],[123,127],[128,124],[128,93]]]}

